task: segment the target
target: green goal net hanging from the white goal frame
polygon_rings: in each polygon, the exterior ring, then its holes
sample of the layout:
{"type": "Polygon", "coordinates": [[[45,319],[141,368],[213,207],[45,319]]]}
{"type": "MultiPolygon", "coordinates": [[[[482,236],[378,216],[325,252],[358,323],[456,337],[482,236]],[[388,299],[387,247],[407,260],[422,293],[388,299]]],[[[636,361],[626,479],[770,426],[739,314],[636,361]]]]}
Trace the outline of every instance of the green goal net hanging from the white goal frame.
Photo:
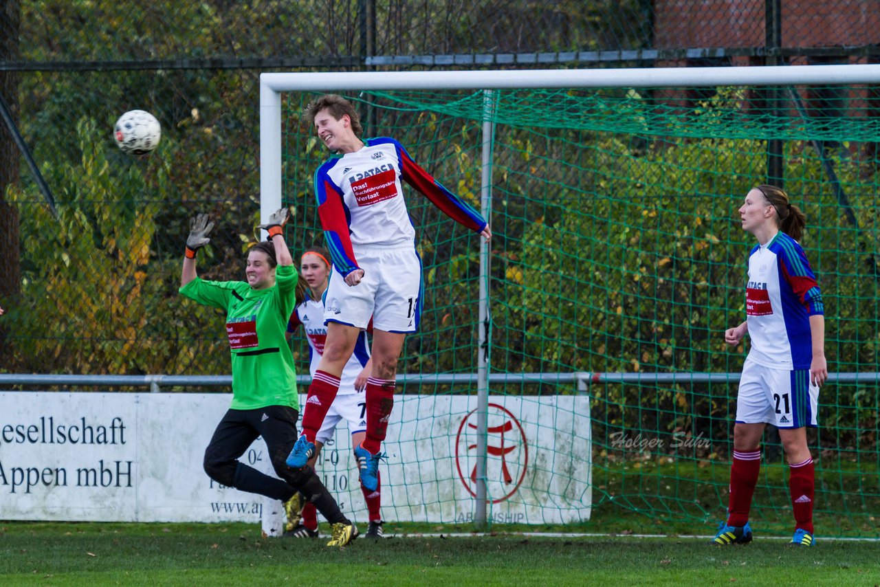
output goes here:
{"type": "MultiPolygon", "coordinates": [[[[880,535],[880,89],[341,93],[365,136],[396,138],[477,209],[488,160],[490,522],[714,531],[748,349],[723,341],[744,319],[753,245],[737,209],[781,173],[807,216],[803,246],[835,374],[809,434],[818,532],[880,535]]],[[[327,153],[299,116],[315,95],[283,94],[282,198],[297,210],[295,247],[323,241],[312,173],[327,153]]],[[[414,190],[407,206],[424,313],[400,361],[383,507],[388,519],[466,522],[479,239],[414,190]]],[[[307,372],[304,342],[294,349],[307,372]]],[[[786,533],[788,466],[774,430],[764,440],[753,525],[786,533]]]]}

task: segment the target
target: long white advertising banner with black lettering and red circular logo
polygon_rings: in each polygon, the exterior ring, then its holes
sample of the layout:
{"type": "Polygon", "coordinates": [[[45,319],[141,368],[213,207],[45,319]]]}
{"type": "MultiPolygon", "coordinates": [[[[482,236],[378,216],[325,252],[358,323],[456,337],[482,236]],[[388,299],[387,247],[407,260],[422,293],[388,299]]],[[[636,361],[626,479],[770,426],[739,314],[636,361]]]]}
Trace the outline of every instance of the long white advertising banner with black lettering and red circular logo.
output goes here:
{"type": "MultiPolygon", "coordinates": [[[[0,519],[263,520],[267,529],[280,503],[218,485],[202,469],[204,449],[230,402],[229,393],[0,392],[0,519]]],[[[589,519],[589,400],[490,396],[489,402],[492,521],[589,519]]],[[[473,520],[475,410],[474,396],[395,396],[384,447],[389,458],[379,467],[385,519],[473,520]]],[[[241,460],[274,474],[260,438],[241,460]]],[[[316,469],[341,510],[365,520],[344,423],[316,469]]]]}

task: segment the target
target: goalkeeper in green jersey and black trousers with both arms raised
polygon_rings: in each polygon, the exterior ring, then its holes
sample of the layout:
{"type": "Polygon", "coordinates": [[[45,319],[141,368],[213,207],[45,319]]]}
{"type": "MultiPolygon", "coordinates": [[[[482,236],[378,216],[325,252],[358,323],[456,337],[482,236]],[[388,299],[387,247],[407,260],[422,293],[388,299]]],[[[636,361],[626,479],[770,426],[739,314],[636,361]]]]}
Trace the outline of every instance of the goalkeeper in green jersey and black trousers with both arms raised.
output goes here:
{"type": "Polygon", "coordinates": [[[297,441],[299,409],[293,356],[284,338],[297,306],[298,282],[297,268],[284,242],[287,218],[287,209],[282,208],[269,216],[268,224],[260,225],[270,240],[247,253],[244,282],[199,279],[195,256],[208,244],[214,223],[199,214],[190,224],[180,293],[226,312],[232,363],[232,404],[205,450],[204,467],[222,485],[281,500],[289,517],[292,510],[298,512],[294,499],[298,491],[332,525],[333,537],[327,546],[341,547],[357,537],[356,526],[342,515],[312,468],[291,469],[284,462],[297,441]],[[238,460],[260,436],[281,479],[238,460]]]}

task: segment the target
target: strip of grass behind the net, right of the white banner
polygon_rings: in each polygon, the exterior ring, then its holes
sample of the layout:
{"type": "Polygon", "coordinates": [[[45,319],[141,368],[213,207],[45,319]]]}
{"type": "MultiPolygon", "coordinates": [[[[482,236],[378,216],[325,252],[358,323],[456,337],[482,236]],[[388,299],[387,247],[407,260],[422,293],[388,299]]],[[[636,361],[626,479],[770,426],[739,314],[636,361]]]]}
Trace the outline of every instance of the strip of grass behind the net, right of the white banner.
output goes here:
{"type": "MultiPolygon", "coordinates": [[[[730,462],[650,459],[593,463],[593,510],[582,532],[700,534],[726,517],[730,462]]],[[[820,535],[880,538],[880,473],[873,463],[821,459],[814,523],[820,535]]],[[[752,526],[793,531],[788,466],[761,466],[752,526]]],[[[565,526],[570,532],[573,526],[565,526]]]]}

